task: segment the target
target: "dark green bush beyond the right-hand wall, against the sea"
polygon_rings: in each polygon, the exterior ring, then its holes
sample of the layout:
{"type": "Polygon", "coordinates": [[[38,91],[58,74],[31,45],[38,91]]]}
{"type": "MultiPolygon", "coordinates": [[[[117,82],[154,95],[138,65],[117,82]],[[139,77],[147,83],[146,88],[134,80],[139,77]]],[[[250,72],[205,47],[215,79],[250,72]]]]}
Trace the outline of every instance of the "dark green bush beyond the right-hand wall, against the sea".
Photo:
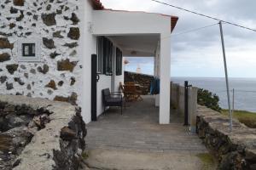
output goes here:
{"type": "Polygon", "coordinates": [[[214,110],[214,111],[221,111],[221,108],[218,105],[218,95],[212,94],[212,92],[199,88],[197,92],[197,103],[199,105],[205,105],[208,108],[214,110]]]}

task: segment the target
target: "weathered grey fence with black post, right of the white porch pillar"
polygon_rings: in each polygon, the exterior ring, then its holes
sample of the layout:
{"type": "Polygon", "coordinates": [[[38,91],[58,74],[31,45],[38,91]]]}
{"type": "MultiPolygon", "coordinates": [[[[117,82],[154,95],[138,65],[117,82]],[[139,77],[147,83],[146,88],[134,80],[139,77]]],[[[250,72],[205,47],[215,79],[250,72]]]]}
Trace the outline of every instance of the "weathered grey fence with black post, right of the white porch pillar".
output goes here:
{"type": "Polygon", "coordinates": [[[185,88],[171,82],[171,107],[184,117],[184,125],[189,125],[190,131],[195,133],[197,88],[192,86],[185,88]]]}

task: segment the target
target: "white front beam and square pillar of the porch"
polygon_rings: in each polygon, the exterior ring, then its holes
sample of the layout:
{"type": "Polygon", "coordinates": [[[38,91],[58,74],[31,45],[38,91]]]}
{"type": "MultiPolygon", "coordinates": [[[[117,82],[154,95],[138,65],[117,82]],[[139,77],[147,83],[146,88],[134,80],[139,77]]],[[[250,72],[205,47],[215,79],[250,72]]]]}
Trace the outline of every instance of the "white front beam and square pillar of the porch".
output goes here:
{"type": "Polygon", "coordinates": [[[162,14],[93,11],[94,35],[160,34],[160,124],[170,122],[171,17],[162,14]]]}

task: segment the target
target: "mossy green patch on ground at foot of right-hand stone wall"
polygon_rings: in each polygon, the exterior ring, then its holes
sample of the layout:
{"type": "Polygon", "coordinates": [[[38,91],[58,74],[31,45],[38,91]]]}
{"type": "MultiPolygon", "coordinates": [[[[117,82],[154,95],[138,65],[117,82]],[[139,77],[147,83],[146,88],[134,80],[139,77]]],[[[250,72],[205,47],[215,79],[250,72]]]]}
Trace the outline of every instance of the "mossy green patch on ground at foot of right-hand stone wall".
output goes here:
{"type": "Polygon", "coordinates": [[[201,170],[215,169],[214,167],[216,166],[216,163],[214,156],[209,153],[200,153],[196,156],[199,157],[203,163],[203,167],[201,168],[201,170]]]}

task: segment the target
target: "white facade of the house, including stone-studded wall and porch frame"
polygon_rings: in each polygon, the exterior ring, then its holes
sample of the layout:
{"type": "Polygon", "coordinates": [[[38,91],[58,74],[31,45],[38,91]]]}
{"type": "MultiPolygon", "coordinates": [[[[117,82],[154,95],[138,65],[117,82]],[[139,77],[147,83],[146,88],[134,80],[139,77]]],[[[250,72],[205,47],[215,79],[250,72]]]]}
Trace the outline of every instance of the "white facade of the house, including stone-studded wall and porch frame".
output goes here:
{"type": "MultiPolygon", "coordinates": [[[[1,1],[0,24],[5,26],[1,32],[6,33],[6,36],[0,35],[0,41],[3,41],[1,38],[6,38],[14,44],[14,48],[0,47],[0,55],[5,53],[10,55],[10,59],[0,63],[1,93],[48,99],[55,97],[73,99],[72,94],[75,94],[76,104],[82,108],[84,122],[90,122],[91,54],[97,53],[96,38],[104,36],[113,42],[113,76],[101,74],[97,82],[97,116],[103,112],[102,89],[109,88],[116,92],[119,91],[119,82],[124,82],[124,74],[115,76],[115,48],[118,47],[122,50],[123,56],[155,57],[154,73],[156,77],[160,77],[160,123],[169,123],[170,105],[166,104],[170,103],[171,16],[107,9],[95,10],[93,2],[96,3],[94,0],[62,0],[59,3],[55,1],[50,3],[48,0],[25,1],[24,5],[15,6],[18,11],[16,14],[11,14],[13,2],[1,1]],[[36,8],[33,2],[44,5],[40,6],[41,9],[36,8]],[[55,14],[56,10],[60,10],[61,13],[55,14]],[[22,11],[32,14],[24,13],[24,19],[16,21],[17,18],[22,17],[22,11]],[[41,17],[43,14],[54,14],[56,23],[46,26],[41,17]],[[71,21],[72,14],[78,15],[78,23],[74,24],[71,21]],[[33,15],[38,15],[38,18],[35,19],[33,15]],[[8,20],[9,18],[11,19],[8,20]],[[26,22],[27,20],[32,20],[35,25],[32,26],[31,22],[26,22]],[[15,28],[9,29],[9,25],[13,23],[16,24],[15,28]],[[73,27],[79,28],[79,38],[68,36],[68,32],[73,27]],[[62,38],[53,36],[56,31],[61,31],[62,38]],[[30,34],[26,35],[26,33],[30,34]],[[19,62],[17,57],[19,37],[39,39],[40,61],[19,62]],[[47,48],[42,41],[44,37],[52,40],[55,47],[47,48]],[[69,48],[67,43],[77,43],[77,46],[69,48]],[[55,53],[58,55],[54,58],[49,57],[55,53]],[[72,71],[57,68],[58,63],[63,60],[75,63],[72,71]],[[17,65],[16,71],[10,73],[6,69],[7,65],[17,65]],[[42,73],[39,70],[40,68],[42,70],[44,65],[49,68],[42,73]],[[15,81],[15,78],[20,78],[23,84],[15,81]],[[71,83],[73,78],[75,78],[74,84],[71,83]],[[55,81],[55,87],[49,88],[48,83],[52,81],[55,81]],[[59,85],[59,82],[62,84],[59,85]]],[[[124,65],[122,68],[124,73],[124,65]]]]}

